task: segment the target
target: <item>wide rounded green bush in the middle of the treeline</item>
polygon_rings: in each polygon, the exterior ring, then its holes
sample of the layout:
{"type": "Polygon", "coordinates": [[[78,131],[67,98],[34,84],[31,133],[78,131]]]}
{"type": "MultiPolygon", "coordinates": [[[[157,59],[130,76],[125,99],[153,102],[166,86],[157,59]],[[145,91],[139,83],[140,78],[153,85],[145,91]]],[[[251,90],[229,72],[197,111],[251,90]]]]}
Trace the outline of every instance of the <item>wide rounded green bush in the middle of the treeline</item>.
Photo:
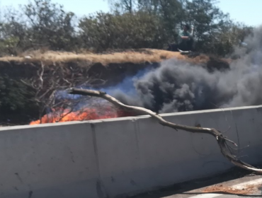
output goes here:
{"type": "Polygon", "coordinates": [[[161,48],[166,42],[161,21],[144,11],[133,13],[96,13],[81,18],[80,37],[84,47],[95,51],[108,49],[161,48]]]}

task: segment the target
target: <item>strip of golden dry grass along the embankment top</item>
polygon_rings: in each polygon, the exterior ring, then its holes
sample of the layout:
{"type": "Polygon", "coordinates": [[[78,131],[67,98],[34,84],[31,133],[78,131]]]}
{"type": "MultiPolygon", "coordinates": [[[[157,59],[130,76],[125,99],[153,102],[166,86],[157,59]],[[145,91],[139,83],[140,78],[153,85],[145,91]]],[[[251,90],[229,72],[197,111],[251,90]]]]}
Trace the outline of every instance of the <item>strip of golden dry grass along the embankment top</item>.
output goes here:
{"type": "Polygon", "coordinates": [[[123,64],[123,63],[134,63],[142,64],[144,62],[161,62],[164,59],[181,59],[193,63],[207,62],[209,57],[200,55],[193,59],[188,58],[185,55],[181,55],[179,52],[169,52],[166,50],[152,50],[142,49],[140,51],[130,52],[115,52],[111,54],[74,54],[72,52],[40,52],[33,51],[21,55],[20,57],[1,57],[0,62],[89,62],[90,64],[101,63],[103,65],[108,64],[123,64]],[[25,58],[30,56],[30,59],[25,58]]]}

